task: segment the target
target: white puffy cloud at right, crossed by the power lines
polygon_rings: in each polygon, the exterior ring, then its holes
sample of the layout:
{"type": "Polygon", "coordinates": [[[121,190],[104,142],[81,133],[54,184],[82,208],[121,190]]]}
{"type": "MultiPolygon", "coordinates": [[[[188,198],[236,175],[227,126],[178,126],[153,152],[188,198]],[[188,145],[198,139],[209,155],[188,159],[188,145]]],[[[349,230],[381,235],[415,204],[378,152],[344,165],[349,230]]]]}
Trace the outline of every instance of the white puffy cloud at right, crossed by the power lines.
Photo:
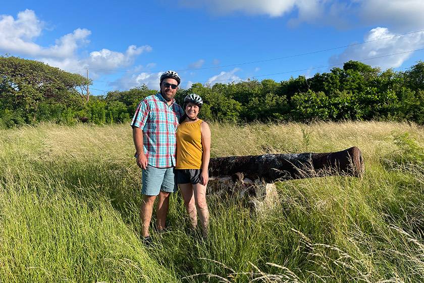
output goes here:
{"type": "MultiPolygon", "coordinates": [[[[364,41],[375,40],[394,36],[389,29],[377,27],[370,30],[364,37],[364,41]]],[[[349,60],[363,60],[367,58],[375,58],[386,56],[389,54],[397,54],[405,51],[411,51],[424,47],[424,32],[407,34],[404,36],[396,36],[382,39],[374,42],[368,42],[361,45],[355,45],[347,48],[342,54],[330,58],[331,64],[342,64],[349,60]]],[[[364,63],[382,69],[397,68],[407,60],[412,53],[398,54],[389,57],[381,57],[372,60],[366,60],[364,63]]]]}

